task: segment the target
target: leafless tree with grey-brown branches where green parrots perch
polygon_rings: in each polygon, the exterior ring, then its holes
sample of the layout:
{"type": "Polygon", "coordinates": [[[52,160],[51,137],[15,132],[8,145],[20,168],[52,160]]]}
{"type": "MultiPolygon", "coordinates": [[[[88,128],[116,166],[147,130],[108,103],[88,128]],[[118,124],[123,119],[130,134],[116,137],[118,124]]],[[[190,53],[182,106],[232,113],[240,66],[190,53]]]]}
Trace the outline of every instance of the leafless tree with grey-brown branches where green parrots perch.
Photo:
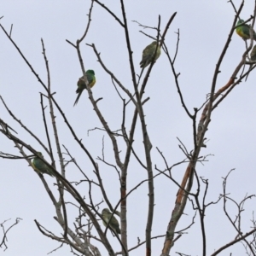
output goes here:
{"type": "MultiPolygon", "coordinates": [[[[142,73],[137,75],[134,61],[133,61],[133,51],[131,47],[131,38],[129,34],[129,28],[127,24],[127,17],[125,12],[125,3],[123,0],[120,0],[121,4],[121,13],[122,18],[119,18],[118,15],[115,15],[111,9],[108,8],[107,5],[101,3],[98,0],[92,0],[88,15],[88,23],[84,28],[84,34],[79,38],[75,43],[67,40],[68,45],[70,45],[73,49],[75,49],[76,54],[78,55],[78,61],[81,67],[81,71],[84,74],[84,81],[86,84],[86,89],[88,93],[90,102],[93,106],[93,109],[96,113],[97,118],[101,122],[102,127],[96,127],[95,130],[100,130],[106,135],[110,141],[110,145],[105,143],[105,137],[102,139],[102,156],[98,156],[97,158],[91,153],[91,147],[93,145],[86,145],[82,142],[82,140],[77,135],[73,125],[70,124],[67,116],[63,112],[61,106],[55,99],[55,92],[52,91],[51,83],[50,83],[50,70],[49,70],[49,62],[46,55],[46,50],[44,47],[44,40],[42,39],[42,49],[44,55],[45,68],[48,74],[48,83],[44,84],[43,80],[40,78],[38,73],[36,73],[35,69],[32,67],[32,64],[26,59],[26,56],[23,55],[22,51],[15,43],[15,41],[11,37],[11,31],[8,33],[7,30],[0,24],[3,32],[6,37],[9,38],[11,44],[15,46],[15,49],[18,50],[20,57],[26,61],[28,67],[30,67],[32,73],[38,79],[38,83],[42,85],[44,92],[41,93],[41,110],[44,119],[44,129],[45,135],[47,137],[47,144],[43,143],[41,137],[37,137],[36,134],[31,131],[26,124],[24,124],[20,119],[18,114],[12,112],[9,109],[6,102],[4,102],[3,97],[0,96],[1,101],[3,102],[4,108],[8,111],[9,115],[17,122],[21,129],[26,131],[35,141],[37,141],[44,151],[49,155],[50,162],[45,160],[40,154],[38,154],[38,148],[33,148],[30,144],[26,143],[20,136],[13,125],[9,124],[4,119],[0,119],[1,124],[1,132],[3,137],[7,137],[10,143],[14,143],[15,147],[18,148],[19,154],[9,154],[8,152],[0,152],[0,156],[5,159],[24,159],[28,162],[29,165],[32,166],[32,159],[38,157],[40,160],[44,162],[47,168],[50,169],[51,172],[54,173],[55,177],[55,187],[53,189],[50,188],[49,183],[44,179],[42,173],[38,172],[38,177],[41,179],[44,184],[44,188],[46,193],[49,195],[49,199],[52,201],[55,207],[55,221],[60,224],[62,233],[61,235],[56,235],[52,231],[50,231],[47,227],[44,227],[42,224],[35,220],[35,224],[38,227],[38,230],[42,232],[44,236],[48,236],[49,238],[58,241],[62,244],[67,244],[73,254],[75,255],[106,255],[105,252],[101,252],[98,248],[105,247],[108,251],[108,255],[128,255],[133,252],[136,252],[138,247],[145,245],[145,254],[155,255],[152,252],[151,242],[153,239],[164,237],[165,241],[163,242],[162,252],[159,253],[161,256],[170,255],[172,247],[174,247],[177,239],[180,239],[185,230],[189,230],[189,228],[195,224],[195,218],[198,218],[201,225],[201,241],[202,241],[202,255],[207,255],[207,236],[205,230],[205,212],[208,207],[212,207],[212,205],[218,204],[220,202],[224,203],[224,213],[226,214],[230,224],[236,230],[236,237],[230,239],[228,244],[219,247],[215,252],[211,255],[217,255],[222,252],[227,247],[231,247],[235,245],[237,242],[242,242],[244,245],[245,251],[248,255],[256,255],[255,249],[255,220],[253,218],[253,227],[251,230],[242,231],[241,229],[241,212],[244,210],[244,204],[248,199],[253,198],[255,195],[246,195],[241,202],[237,202],[235,199],[232,199],[229,196],[229,193],[226,189],[226,183],[230,172],[224,177],[223,182],[223,193],[219,195],[216,201],[207,202],[207,189],[209,182],[204,177],[199,177],[196,172],[196,166],[198,163],[203,163],[207,161],[208,155],[201,155],[201,149],[206,147],[206,132],[210,128],[210,122],[212,119],[212,111],[214,111],[217,107],[221,106],[221,103],[229,96],[230,91],[236,89],[236,85],[241,83],[241,80],[244,79],[248,73],[252,72],[253,68],[256,67],[253,61],[247,61],[247,55],[253,47],[253,30],[251,29],[251,39],[250,44],[247,49],[244,51],[241,56],[241,61],[237,63],[234,72],[232,73],[230,79],[227,84],[224,84],[221,88],[217,89],[217,78],[219,73],[219,67],[224,61],[224,57],[226,51],[231,43],[231,38],[236,30],[236,22],[239,19],[239,15],[241,14],[241,9],[243,8],[244,2],[241,2],[239,9],[236,11],[235,5],[230,1],[232,6],[234,7],[236,16],[233,20],[233,23],[230,24],[230,33],[224,44],[224,48],[219,56],[218,63],[215,67],[214,76],[212,79],[212,84],[210,87],[210,93],[207,96],[206,102],[201,103],[201,108],[194,108],[194,112],[192,113],[186,105],[186,102],[183,99],[183,93],[180,88],[180,84],[178,81],[179,73],[177,73],[175,68],[175,61],[178,52],[179,46],[179,31],[177,31],[177,47],[174,55],[170,55],[167,44],[166,44],[166,33],[170,26],[172,26],[172,20],[175,19],[176,13],[173,13],[168,22],[163,25],[161,22],[161,17],[159,16],[158,23],[155,27],[150,27],[141,24],[139,21],[137,25],[146,29],[145,31],[149,31],[151,33],[143,32],[145,36],[148,38],[152,38],[160,45],[161,49],[163,49],[164,54],[167,56],[169,60],[169,64],[172,70],[173,78],[177,87],[177,96],[182,103],[184,112],[187,114],[193,125],[193,137],[194,147],[187,149],[183,142],[179,141],[179,148],[182,150],[184,154],[183,160],[180,160],[176,163],[172,163],[170,165],[168,162],[168,157],[161,152],[160,148],[157,148],[160,157],[162,159],[162,163],[164,163],[165,167],[160,168],[156,165],[155,160],[153,159],[153,155],[151,152],[152,143],[150,140],[150,132],[148,131],[147,119],[145,114],[144,106],[147,104],[149,97],[143,97],[145,91],[147,90],[148,79],[151,74],[151,71],[155,65],[155,61],[152,61],[148,68],[143,68],[142,73]],[[100,55],[100,50],[97,49],[96,44],[87,44],[87,47],[91,49],[95,53],[96,60],[101,64],[102,69],[108,76],[111,78],[113,87],[116,90],[117,96],[119,96],[119,101],[122,103],[122,108],[119,109],[119,112],[122,115],[122,121],[118,128],[113,129],[111,125],[108,125],[108,119],[104,116],[102,109],[99,107],[99,102],[102,98],[96,99],[93,95],[93,90],[90,89],[89,82],[86,77],[85,67],[88,66],[87,61],[83,59],[80,48],[81,43],[84,42],[84,38],[86,38],[87,33],[90,31],[90,21],[93,14],[93,10],[96,8],[102,8],[108,15],[110,15],[114,20],[116,20],[117,24],[121,26],[124,32],[126,48],[128,52],[128,58],[130,62],[130,73],[131,73],[131,84],[132,89],[128,89],[128,86],[121,83],[118,75],[113,73],[112,70],[108,67],[106,61],[103,59],[102,55],[100,55]],[[153,35],[152,35],[153,34],[153,35]],[[247,64],[253,64],[247,72],[244,72],[244,67],[247,64]],[[85,66],[85,67],[84,67],[85,66]],[[144,75],[143,75],[144,73],[144,75]],[[241,73],[239,75],[239,73],[241,73]],[[48,102],[48,103],[46,103],[48,102]],[[49,106],[49,118],[51,122],[48,122],[48,115],[46,113],[46,105],[49,106]],[[132,109],[132,113],[131,113],[132,109]],[[90,161],[88,166],[81,167],[75,160],[75,156],[70,153],[69,148],[67,148],[64,143],[62,143],[63,138],[59,136],[60,126],[58,126],[55,122],[56,115],[60,115],[64,120],[65,125],[67,125],[67,129],[70,134],[73,136],[76,143],[78,143],[81,151],[86,156],[86,159],[90,161]],[[52,126],[52,132],[49,127],[52,126]],[[142,143],[140,145],[135,145],[135,134],[136,131],[140,131],[142,137],[142,143]],[[55,146],[53,146],[55,145],[55,146]],[[106,146],[108,149],[106,149],[106,146]],[[54,154],[53,147],[56,148],[57,158],[54,154]],[[108,161],[105,158],[105,150],[112,150],[114,163],[112,161],[108,161]],[[57,160],[56,160],[57,159],[57,160]],[[132,189],[128,189],[129,186],[127,184],[127,175],[131,167],[131,160],[135,160],[137,162],[137,168],[145,170],[147,173],[147,178],[139,181],[136,186],[132,189]],[[58,166],[57,163],[60,163],[58,166]],[[72,181],[67,178],[66,168],[67,166],[76,166],[79,169],[81,178],[80,180],[72,181]],[[176,177],[172,174],[172,171],[177,166],[186,165],[183,172],[182,181],[178,181],[176,177]],[[104,168],[110,167],[116,172],[116,179],[114,183],[119,183],[119,201],[113,203],[108,196],[108,192],[106,191],[106,185],[102,182],[102,170],[104,168]],[[92,172],[84,171],[84,169],[93,169],[92,172]],[[170,216],[169,223],[166,224],[166,232],[163,234],[159,234],[158,236],[152,235],[152,225],[154,221],[154,198],[155,194],[159,193],[159,191],[154,190],[154,183],[156,177],[166,177],[166,179],[170,180],[177,186],[177,195],[175,204],[172,206],[172,214],[170,216]],[[96,179],[96,180],[95,180],[96,179]],[[143,183],[148,184],[148,199],[146,197],[145,200],[148,200],[148,210],[147,216],[145,216],[146,225],[143,227],[145,230],[145,238],[143,241],[138,239],[137,245],[128,246],[127,236],[129,236],[127,232],[127,199],[132,193],[143,185],[143,183]],[[85,189],[87,192],[85,193],[85,189]],[[56,192],[58,195],[56,195],[56,192]],[[102,201],[96,197],[96,194],[100,194],[102,196],[102,201]],[[189,200],[189,201],[188,201],[189,200]],[[112,213],[111,218],[113,218],[113,214],[117,216],[117,219],[120,223],[120,236],[118,236],[115,232],[113,232],[114,239],[119,242],[119,247],[121,248],[119,251],[114,250],[113,243],[110,241],[111,231],[114,231],[110,224],[106,225],[106,228],[102,228],[102,202],[104,201],[107,204],[108,208],[112,213]],[[229,211],[227,210],[227,201],[233,202],[237,207],[236,218],[232,218],[230,216],[229,211]],[[191,222],[187,227],[184,227],[182,230],[177,230],[177,224],[179,220],[182,219],[184,214],[184,209],[187,203],[193,207],[195,214],[191,217],[191,222]],[[71,211],[77,212],[75,218],[70,217],[71,211]],[[101,210],[100,210],[101,209],[101,210]],[[249,241],[249,239],[251,239],[249,241]],[[131,253],[130,253],[131,252],[131,253]]],[[[254,25],[256,17],[256,3],[253,15],[250,19],[246,20],[247,23],[249,20],[252,21],[252,27],[254,25]]],[[[154,55],[156,55],[156,50],[154,55]]],[[[131,88],[131,87],[129,87],[131,88]]],[[[89,132],[89,131],[88,131],[89,132]]],[[[91,132],[91,131],[90,131],[91,132]]],[[[113,180],[109,180],[109,183],[113,183],[113,180]]],[[[168,213],[167,213],[168,214],[168,213]]],[[[111,219],[110,218],[110,219],[111,219]]],[[[111,220],[110,220],[111,221],[111,220]]],[[[185,255],[183,252],[177,252],[178,255],[185,255]]]]}

